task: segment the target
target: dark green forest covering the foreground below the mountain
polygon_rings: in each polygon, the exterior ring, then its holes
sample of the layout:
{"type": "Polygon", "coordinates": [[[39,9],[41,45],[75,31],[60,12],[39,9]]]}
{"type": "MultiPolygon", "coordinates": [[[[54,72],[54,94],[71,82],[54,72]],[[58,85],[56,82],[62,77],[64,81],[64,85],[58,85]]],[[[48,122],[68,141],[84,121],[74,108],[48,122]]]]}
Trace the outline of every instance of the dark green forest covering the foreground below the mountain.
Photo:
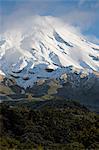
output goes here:
{"type": "Polygon", "coordinates": [[[1,103],[0,150],[99,149],[98,114],[73,101],[39,103],[1,103]]]}

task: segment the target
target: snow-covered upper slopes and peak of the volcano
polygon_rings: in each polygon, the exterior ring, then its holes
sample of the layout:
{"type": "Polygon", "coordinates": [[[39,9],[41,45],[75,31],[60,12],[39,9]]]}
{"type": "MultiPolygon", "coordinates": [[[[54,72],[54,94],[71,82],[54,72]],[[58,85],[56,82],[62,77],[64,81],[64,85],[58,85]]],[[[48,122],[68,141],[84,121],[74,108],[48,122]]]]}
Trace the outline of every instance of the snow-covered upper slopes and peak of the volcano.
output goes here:
{"type": "Polygon", "coordinates": [[[67,67],[99,71],[99,45],[52,17],[35,17],[0,40],[0,73],[27,87],[38,78],[58,77],[67,67]],[[26,25],[26,26],[25,26],[26,25]],[[23,28],[22,28],[23,26],[23,28]]]}

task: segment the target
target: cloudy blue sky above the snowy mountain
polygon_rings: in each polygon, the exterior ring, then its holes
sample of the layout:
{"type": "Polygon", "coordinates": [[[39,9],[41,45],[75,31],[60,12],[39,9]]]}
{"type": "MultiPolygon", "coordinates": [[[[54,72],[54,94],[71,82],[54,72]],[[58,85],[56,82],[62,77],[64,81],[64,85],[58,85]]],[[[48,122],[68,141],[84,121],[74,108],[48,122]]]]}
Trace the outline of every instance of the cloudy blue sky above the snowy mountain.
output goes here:
{"type": "Polygon", "coordinates": [[[51,15],[79,27],[90,38],[99,39],[99,0],[0,0],[0,3],[2,25],[14,14],[51,15]]]}

